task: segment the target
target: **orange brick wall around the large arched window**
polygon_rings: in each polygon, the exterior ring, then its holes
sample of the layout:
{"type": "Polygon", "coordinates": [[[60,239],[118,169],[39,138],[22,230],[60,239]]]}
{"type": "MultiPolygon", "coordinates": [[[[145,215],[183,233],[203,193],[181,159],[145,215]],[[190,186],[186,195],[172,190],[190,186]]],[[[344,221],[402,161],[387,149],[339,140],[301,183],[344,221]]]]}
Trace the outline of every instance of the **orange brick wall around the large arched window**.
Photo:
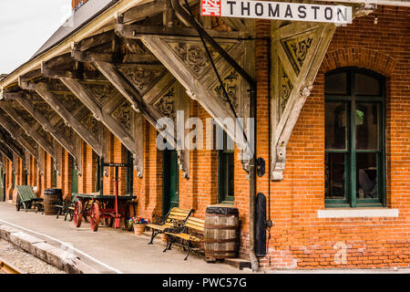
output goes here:
{"type": "MultiPolygon", "coordinates": [[[[284,180],[271,183],[266,268],[408,267],[410,263],[410,30],[407,8],[379,7],[339,27],[292,133],[284,180]],[[369,68],[387,78],[387,201],[398,218],[319,219],[324,209],[324,73],[369,68]],[[346,262],[334,255],[346,248],[346,262]],[[339,265],[338,265],[339,264],[339,265]]],[[[258,55],[258,54],[257,54],[258,55]]],[[[262,191],[261,189],[259,191],[262,191]]],[[[264,190],[268,192],[268,190],[264,190]]]]}

